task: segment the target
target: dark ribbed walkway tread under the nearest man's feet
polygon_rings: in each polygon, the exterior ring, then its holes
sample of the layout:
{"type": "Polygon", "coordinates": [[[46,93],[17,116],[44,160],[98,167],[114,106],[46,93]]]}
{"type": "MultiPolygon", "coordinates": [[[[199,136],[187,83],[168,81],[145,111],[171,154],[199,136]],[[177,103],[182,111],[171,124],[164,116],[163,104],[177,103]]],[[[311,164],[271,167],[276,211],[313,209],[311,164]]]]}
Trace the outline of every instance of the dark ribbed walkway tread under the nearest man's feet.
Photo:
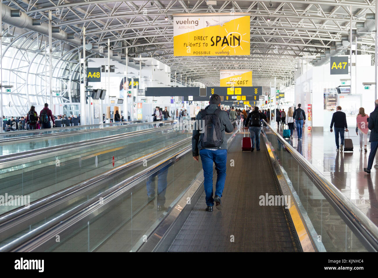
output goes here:
{"type": "Polygon", "coordinates": [[[259,205],[259,196],[282,195],[262,136],[254,152],[242,152],[242,137],[228,148],[222,210],[205,211],[203,192],[168,252],[302,252],[287,209],[259,205]]]}

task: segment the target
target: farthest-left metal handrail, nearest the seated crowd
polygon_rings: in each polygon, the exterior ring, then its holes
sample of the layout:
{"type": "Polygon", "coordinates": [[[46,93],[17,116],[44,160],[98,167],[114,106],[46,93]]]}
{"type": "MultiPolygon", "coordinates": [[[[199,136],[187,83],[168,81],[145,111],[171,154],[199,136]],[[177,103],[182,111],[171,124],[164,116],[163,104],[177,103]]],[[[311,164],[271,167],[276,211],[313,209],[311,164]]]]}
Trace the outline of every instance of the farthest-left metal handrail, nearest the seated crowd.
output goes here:
{"type": "MultiPolygon", "coordinates": [[[[143,126],[145,124],[154,124],[155,122],[146,122],[146,123],[135,123],[135,124],[124,124],[124,125],[117,125],[117,126],[107,126],[107,127],[99,127],[99,128],[93,128],[93,129],[80,129],[80,130],[71,130],[71,131],[62,131],[62,132],[55,132],[55,133],[49,133],[49,134],[37,134],[37,135],[30,135],[30,136],[22,136],[22,137],[15,137],[15,138],[6,138],[0,140],[0,145],[3,144],[14,144],[19,143],[20,141],[30,141],[30,140],[36,140],[39,138],[43,139],[50,139],[49,137],[59,138],[59,137],[67,137],[67,135],[71,134],[81,134],[81,133],[90,133],[90,132],[98,132],[99,130],[111,130],[111,129],[117,129],[121,127],[128,127],[128,126],[143,126]]],[[[173,123],[172,120],[165,121],[165,123],[173,123]]]]}

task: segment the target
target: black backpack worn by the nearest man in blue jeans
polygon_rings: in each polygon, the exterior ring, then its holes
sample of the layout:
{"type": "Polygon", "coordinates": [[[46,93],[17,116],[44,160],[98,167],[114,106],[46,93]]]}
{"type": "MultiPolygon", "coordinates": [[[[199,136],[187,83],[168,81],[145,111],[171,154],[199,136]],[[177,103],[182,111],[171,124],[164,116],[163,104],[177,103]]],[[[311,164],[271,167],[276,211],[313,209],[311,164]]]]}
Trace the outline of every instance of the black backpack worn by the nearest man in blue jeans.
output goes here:
{"type": "Polygon", "coordinates": [[[220,131],[219,113],[222,110],[215,110],[214,114],[208,114],[207,109],[201,111],[203,132],[200,133],[203,148],[217,148],[222,141],[222,132],[220,131]]]}

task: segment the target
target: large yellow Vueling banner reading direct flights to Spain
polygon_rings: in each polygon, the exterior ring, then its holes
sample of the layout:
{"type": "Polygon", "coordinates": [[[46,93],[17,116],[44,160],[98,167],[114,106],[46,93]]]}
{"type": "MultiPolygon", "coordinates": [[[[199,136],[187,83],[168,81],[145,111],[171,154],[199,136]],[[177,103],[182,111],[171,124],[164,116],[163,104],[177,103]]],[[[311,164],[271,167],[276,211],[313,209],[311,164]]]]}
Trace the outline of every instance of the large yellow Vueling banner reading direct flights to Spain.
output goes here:
{"type": "Polygon", "coordinates": [[[249,16],[188,14],[173,18],[174,56],[250,54],[249,16]]]}

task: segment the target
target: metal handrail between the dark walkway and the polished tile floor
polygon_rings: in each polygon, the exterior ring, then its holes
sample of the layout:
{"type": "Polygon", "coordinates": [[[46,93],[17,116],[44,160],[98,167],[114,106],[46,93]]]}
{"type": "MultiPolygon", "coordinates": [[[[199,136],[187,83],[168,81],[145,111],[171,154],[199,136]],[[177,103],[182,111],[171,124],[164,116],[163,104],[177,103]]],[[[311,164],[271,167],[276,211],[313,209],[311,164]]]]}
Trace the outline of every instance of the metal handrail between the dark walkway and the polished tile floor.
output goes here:
{"type": "MultiPolygon", "coordinates": [[[[305,159],[299,152],[296,151],[285,139],[283,139],[271,126],[263,122],[269,127],[270,131],[277,137],[277,139],[285,146],[285,148],[293,155],[305,171],[316,181],[318,189],[325,194],[324,197],[330,201],[331,205],[334,204],[340,213],[341,217],[349,223],[349,227],[359,233],[362,237],[361,241],[365,241],[367,248],[371,251],[378,251],[378,227],[359,210],[347,197],[345,197],[335,185],[330,183],[324,175],[318,171],[307,159],[305,159]]],[[[366,245],[365,245],[366,246],[366,245]]]]}

